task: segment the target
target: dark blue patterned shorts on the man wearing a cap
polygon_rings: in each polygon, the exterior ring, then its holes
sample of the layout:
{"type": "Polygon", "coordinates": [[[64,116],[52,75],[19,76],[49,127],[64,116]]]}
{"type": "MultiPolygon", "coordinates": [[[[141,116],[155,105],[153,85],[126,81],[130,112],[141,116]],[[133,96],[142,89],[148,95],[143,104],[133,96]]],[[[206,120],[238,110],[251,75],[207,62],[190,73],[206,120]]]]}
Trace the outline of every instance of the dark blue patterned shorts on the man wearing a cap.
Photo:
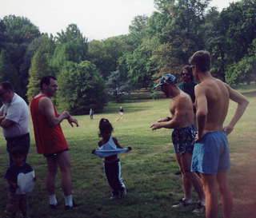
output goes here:
{"type": "Polygon", "coordinates": [[[175,153],[182,155],[183,153],[193,153],[195,129],[194,125],[185,128],[174,129],[172,135],[175,153]]]}

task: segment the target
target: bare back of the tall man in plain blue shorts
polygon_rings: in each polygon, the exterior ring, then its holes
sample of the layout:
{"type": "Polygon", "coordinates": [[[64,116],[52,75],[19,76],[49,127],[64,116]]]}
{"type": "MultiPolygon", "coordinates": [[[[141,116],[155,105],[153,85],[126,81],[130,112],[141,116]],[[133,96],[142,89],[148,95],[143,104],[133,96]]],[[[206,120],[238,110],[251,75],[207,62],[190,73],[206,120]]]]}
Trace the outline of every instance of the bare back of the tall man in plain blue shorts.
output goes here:
{"type": "Polygon", "coordinates": [[[195,88],[196,105],[206,103],[206,125],[204,132],[214,132],[223,129],[223,123],[229,108],[230,93],[226,83],[211,77],[195,88]]]}

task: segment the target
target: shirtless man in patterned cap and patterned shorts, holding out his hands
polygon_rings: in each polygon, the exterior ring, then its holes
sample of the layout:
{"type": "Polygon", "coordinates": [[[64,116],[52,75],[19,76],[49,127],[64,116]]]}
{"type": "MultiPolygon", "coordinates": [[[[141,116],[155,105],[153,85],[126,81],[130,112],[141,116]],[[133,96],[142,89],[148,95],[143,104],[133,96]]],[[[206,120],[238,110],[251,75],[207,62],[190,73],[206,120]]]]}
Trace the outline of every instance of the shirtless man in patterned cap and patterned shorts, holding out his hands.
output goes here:
{"type": "Polygon", "coordinates": [[[195,137],[193,104],[190,96],[179,89],[176,83],[177,79],[174,75],[166,74],[161,78],[159,84],[155,85],[155,89],[160,86],[166,97],[170,98],[170,113],[172,117],[160,119],[150,128],[152,130],[161,128],[174,129],[172,141],[176,158],[182,171],[184,197],[172,207],[182,208],[192,205],[192,186],[194,186],[199,198],[198,206],[194,209],[194,213],[202,213],[205,208],[202,184],[198,175],[190,171],[195,137]]]}

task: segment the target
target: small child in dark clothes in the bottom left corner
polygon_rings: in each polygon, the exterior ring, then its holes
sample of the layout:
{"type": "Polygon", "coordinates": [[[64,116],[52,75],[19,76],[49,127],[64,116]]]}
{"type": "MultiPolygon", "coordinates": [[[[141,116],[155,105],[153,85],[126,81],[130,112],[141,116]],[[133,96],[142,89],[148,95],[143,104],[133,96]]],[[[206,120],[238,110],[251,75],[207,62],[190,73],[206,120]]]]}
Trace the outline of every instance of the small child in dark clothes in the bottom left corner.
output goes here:
{"type": "MultiPolygon", "coordinates": [[[[10,157],[13,161],[13,164],[6,171],[6,180],[8,181],[9,192],[8,200],[6,205],[7,212],[10,213],[10,218],[15,218],[18,210],[22,212],[23,218],[27,218],[27,195],[26,191],[31,189],[30,185],[25,185],[24,187],[19,187],[19,180],[33,180],[31,183],[34,184],[34,170],[30,167],[30,164],[26,164],[26,153],[18,147],[14,147],[10,152],[10,157]]],[[[23,184],[22,184],[23,185],[23,184]]],[[[23,185],[24,186],[24,185],[23,185]]]]}

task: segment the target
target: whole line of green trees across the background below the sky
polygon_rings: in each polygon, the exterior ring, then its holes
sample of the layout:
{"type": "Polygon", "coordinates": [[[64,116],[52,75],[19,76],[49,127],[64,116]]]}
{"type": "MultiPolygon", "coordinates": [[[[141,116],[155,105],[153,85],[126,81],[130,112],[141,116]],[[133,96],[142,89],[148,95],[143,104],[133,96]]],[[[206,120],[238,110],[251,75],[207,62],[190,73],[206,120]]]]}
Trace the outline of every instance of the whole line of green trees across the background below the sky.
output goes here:
{"type": "Polygon", "coordinates": [[[218,11],[210,0],[154,0],[156,10],[136,16],[129,34],[105,40],[83,36],[70,24],[56,36],[29,19],[0,19],[0,81],[11,81],[27,101],[45,75],[58,77],[55,101],[74,114],[103,109],[107,93],[152,87],[178,74],[197,50],[212,54],[212,73],[230,85],[256,77],[256,2],[241,0],[218,11]]]}

